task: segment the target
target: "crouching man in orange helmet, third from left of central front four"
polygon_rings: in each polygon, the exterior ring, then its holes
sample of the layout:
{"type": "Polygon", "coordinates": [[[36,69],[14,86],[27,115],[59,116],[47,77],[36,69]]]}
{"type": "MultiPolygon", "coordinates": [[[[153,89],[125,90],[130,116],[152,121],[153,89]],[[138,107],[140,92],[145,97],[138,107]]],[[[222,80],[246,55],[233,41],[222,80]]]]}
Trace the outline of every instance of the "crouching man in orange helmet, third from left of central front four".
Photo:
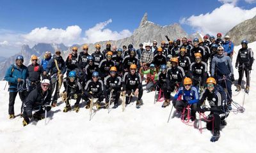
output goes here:
{"type": "Polygon", "coordinates": [[[118,74],[116,74],[117,69],[116,69],[115,66],[112,66],[109,71],[110,71],[110,75],[108,75],[104,79],[104,85],[105,85],[105,89],[106,89],[106,91],[104,92],[105,98],[106,98],[105,99],[106,108],[108,108],[108,103],[109,102],[111,103],[111,101],[109,101],[110,92],[112,92],[111,99],[114,99],[113,108],[117,108],[118,107],[118,100],[120,98],[122,78],[120,78],[118,76],[118,74]]]}

